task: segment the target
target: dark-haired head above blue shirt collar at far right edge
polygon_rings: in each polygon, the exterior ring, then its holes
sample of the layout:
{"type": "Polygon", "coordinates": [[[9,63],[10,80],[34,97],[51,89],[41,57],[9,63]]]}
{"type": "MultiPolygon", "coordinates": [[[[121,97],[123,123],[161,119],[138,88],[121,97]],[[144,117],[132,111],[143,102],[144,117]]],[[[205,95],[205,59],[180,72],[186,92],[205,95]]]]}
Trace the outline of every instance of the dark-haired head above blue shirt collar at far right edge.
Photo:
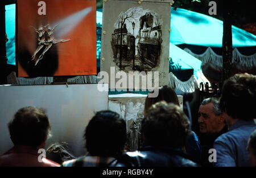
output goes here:
{"type": "Polygon", "coordinates": [[[223,111],[241,120],[256,117],[256,76],[236,74],[225,80],[222,87],[220,107],[223,111]]]}

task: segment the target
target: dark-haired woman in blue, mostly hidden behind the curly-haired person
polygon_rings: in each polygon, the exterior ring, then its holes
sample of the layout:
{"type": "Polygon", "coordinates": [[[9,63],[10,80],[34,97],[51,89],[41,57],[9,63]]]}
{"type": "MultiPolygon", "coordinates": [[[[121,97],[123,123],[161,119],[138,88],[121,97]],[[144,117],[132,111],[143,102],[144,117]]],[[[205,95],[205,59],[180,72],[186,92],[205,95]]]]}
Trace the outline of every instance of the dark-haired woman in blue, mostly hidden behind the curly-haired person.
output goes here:
{"type": "MultiPolygon", "coordinates": [[[[154,91],[151,91],[151,93],[154,91]]],[[[167,103],[174,103],[180,107],[179,100],[174,90],[171,87],[163,86],[159,88],[159,94],[156,98],[149,98],[147,96],[145,100],[144,115],[146,115],[148,109],[159,101],[166,101],[167,103]]],[[[196,133],[191,131],[187,137],[187,143],[184,147],[184,151],[191,157],[191,159],[199,163],[201,159],[201,145],[196,133]]]]}

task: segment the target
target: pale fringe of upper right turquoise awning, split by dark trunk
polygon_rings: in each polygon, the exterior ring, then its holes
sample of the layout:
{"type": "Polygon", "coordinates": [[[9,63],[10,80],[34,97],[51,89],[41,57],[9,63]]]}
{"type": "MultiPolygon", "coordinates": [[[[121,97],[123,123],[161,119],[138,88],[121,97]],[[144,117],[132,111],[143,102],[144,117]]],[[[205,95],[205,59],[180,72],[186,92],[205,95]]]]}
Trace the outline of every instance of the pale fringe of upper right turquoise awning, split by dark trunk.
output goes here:
{"type": "MultiPolygon", "coordinates": [[[[208,47],[203,54],[195,54],[188,48],[185,48],[184,50],[185,52],[201,60],[202,65],[207,64],[213,68],[222,68],[222,56],[216,54],[210,47],[208,47]]],[[[232,63],[236,65],[237,69],[250,70],[253,67],[256,67],[256,53],[250,56],[245,56],[241,54],[237,48],[234,48],[232,63]]]]}

